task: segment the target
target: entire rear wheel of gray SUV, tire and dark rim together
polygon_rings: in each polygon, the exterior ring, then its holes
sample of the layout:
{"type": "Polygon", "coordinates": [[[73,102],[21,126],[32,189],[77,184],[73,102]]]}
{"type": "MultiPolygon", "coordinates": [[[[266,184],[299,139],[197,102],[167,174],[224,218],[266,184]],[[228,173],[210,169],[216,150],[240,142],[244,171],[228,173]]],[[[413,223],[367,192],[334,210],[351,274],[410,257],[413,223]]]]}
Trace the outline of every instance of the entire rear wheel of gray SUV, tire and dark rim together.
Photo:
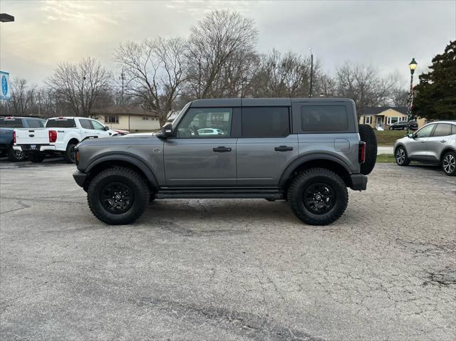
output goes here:
{"type": "Polygon", "coordinates": [[[347,208],[345,182],[329,169],[313,168],[299,173],[291,182],[288,202],[296,216],[309,225],[328,225],[347,208]]]}

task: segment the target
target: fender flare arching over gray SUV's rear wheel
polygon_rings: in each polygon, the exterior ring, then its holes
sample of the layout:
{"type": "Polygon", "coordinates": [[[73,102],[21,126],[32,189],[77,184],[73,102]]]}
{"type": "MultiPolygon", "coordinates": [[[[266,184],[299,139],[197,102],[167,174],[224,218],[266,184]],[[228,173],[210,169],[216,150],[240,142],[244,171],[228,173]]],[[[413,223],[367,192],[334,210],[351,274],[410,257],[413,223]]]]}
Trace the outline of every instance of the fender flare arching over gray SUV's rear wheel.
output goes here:
{"type": "Polygon", "coordinates": [[[351,172],[348,164],[336,156],[323,153],[309,154],[295,159],[282,173],[279,186],[284,187],[285,189],[288,188],[291,180],[298,172],[316,167],[326,168],[335,172],[343,179],[343,182],[346,183],[347,187],[351,187],[351,172]]]}

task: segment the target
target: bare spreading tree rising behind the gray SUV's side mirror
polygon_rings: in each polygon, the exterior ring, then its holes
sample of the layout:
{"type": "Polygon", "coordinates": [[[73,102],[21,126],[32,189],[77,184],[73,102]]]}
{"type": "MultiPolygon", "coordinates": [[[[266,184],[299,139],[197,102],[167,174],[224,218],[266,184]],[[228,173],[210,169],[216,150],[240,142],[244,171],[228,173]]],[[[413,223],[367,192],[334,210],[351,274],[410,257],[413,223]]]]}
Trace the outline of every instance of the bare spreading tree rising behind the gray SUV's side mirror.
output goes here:
{"type": "Polygon", "coordinates": [[[142,100],[165,124],[187,75],[187,44],[181,38],[156,38],[121,44],[114,59],[124,70],[125,93],[142,100]]]}

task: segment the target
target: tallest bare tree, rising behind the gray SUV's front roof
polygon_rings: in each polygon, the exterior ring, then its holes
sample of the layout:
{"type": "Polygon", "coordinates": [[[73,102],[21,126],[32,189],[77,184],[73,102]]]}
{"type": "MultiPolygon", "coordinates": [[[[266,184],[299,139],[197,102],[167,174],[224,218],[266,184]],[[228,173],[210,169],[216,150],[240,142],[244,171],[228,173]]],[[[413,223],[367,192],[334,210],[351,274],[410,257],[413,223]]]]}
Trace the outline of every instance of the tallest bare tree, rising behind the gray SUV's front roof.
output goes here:
{"type": "Polygon", "coordinates": [[[187,92],[193,98],[241,96],[256,67],[257,29],[237,12],[212,11],[191,28],[187,92]]]}

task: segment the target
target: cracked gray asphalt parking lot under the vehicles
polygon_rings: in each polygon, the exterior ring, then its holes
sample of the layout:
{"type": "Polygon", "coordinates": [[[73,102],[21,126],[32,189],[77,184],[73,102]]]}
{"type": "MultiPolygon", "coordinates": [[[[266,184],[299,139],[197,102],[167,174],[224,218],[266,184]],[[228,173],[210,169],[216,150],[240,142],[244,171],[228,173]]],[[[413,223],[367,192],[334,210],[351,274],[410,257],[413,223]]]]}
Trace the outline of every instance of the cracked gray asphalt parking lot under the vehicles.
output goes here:
{"type": "Polygon", "coordinates": [[[455,340],[456,178],[378,164],[344,216],[285,201],[90,214],[59,159],[0,164],[1,340],[455,340]]]}

